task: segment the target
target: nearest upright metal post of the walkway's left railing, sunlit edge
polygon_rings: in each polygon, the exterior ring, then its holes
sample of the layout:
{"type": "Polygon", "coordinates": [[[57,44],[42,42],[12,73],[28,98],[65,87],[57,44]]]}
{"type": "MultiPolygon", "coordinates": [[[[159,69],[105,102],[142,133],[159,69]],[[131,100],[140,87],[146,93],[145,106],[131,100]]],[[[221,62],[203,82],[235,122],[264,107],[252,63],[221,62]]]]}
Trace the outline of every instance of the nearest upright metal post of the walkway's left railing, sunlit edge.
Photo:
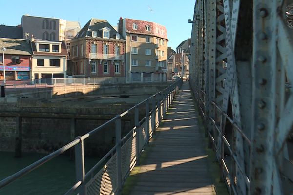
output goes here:
{"type": "Polygon", "coordinates": [[[84,140],[79,136],[77,137],[80,142],[74,146],[75,148],[75,176],[76,181],[81,181],[82,184],[78,188],[79,195],[85,195],[84,183],[84,140]]]}

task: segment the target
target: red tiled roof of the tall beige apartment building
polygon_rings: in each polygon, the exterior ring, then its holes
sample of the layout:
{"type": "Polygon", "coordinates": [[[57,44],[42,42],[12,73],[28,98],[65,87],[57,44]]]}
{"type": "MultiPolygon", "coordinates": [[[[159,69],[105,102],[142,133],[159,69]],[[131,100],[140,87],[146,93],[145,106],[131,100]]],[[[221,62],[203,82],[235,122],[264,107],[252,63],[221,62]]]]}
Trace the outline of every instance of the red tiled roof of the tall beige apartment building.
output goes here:
{"type": "Polygon", "coordinates": [[[163,39],[167,38],[167,29],[165,26],[157,24],[151,21],[135,20],[135,19],[124,19],[126,31],[130,33],[148,34],[163,39]],[[132,29],[132,24],[137,24],[137,30],[132,29]],[[146,31],[146,26],[150,27],[149,31],[146,31]]]}

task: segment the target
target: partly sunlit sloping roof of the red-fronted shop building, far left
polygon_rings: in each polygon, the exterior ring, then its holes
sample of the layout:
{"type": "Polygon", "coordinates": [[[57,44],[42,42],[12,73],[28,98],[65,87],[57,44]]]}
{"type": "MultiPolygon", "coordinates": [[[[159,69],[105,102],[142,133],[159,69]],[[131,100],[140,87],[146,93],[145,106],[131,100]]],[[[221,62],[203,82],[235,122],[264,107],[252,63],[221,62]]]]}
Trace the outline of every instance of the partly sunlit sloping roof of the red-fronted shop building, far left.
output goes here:
{"type": "Polygon", "coordinates": [[[0,38],[0,48],[3,47],[4,54],[32,55],[31,46],[24,39],[0,38]]]}

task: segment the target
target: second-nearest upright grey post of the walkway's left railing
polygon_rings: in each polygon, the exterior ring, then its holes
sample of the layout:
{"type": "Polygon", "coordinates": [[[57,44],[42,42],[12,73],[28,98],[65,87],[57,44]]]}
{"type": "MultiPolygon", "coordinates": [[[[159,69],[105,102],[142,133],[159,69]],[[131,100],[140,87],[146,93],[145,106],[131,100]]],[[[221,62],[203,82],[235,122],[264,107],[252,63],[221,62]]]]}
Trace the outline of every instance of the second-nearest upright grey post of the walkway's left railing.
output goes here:
{"type": "Polygon", "coordinates": [[[122,171],[121,171],[121,117],[117,115],[115,120],[115,135],[116,135],[116,153],[117,153],[117,180],[118,191],[117,194],[121,194],[122,189],[122,171]]]}

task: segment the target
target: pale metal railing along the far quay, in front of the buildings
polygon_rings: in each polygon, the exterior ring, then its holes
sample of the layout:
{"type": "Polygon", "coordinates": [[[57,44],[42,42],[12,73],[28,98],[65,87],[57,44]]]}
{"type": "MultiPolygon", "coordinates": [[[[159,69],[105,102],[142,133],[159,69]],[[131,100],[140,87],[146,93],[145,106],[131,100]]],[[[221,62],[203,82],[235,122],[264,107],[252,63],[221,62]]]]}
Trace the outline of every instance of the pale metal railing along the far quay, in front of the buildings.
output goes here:
{"type": "MultiPolygon", "coordinates": [[[[125,83],[125,77],[42,78],[34,80],[6,80],[6,88],[37,88],[76,85],[104,85],[125,83]]],[[[0,85],[3,81],[0,81],[0,85]]]]}

